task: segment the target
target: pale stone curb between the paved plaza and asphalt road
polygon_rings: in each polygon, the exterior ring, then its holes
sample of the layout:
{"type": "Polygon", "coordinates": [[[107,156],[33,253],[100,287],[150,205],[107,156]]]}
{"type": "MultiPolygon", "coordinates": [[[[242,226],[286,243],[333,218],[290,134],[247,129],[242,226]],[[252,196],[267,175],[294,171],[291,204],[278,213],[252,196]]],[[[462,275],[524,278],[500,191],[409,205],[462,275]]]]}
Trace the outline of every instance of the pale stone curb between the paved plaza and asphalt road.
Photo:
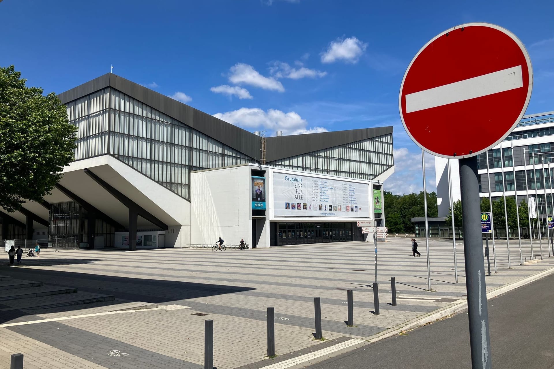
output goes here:
{"type": "MultiPolygon", "coordinates": [[[[534,274],[533,276],[525,277],[525,278],[520,279],[520,280],[518,280],[514,283],[510,283],[510,284],[507,284],[503,287],[496,288],[496,289],[488,292],[486,294],[486,298],[487,298],[487,300],[490,300],[491,298],[497,297],[497,296],[499,296],[501,294],[504,294],[506,292],[510,292],[511,290],[522,287],[522,286],[524,286],[526,284],[529,284],[531,282],[535,282],[535,280],[541,279],[541,278],[546,277],[546,276],[550,276],[550,274],[554,274],[554,268],[547,269],[546,271],[542,271],[540,273],[534,274]]],[[[449,307],[444,308],[444,309],[439,310],[439,311],[435,311],[434,313],[430,313],[429,315],[425,315],[425,316],[423,316],[423,318],[418,318],[416,320],[408,321],[408,324],[406,324],[406,325],[402,325],[401,327],[396,326],[396,327],[393,328],[393,330],[387,330],[387,331],[383,332],[382,334],[378,334],[377,336],[373,335],[373,336],[365,337],[365,338],[363,338],[363,340],[365,342],[363,342],[361,344],[357,344],[355,346],[346,347],[345,349],[342,349],[342,350],[337,350],[335,352],[329,353],[329,354],[326,355],[324,360],[326,360],[327,358],[337,357],[339,355],[346,354],[347,352],[351,352],[352,350],[358,349],[360,347],[365,347],[365,346],[373,344],[375,342],[382,341],[384,339],[396,336],[396,335],[400,334],[403,331],[418,328],[419,326],[431,323],[435,320],[444,318],[445,316],[456,314],[456,313],[459,313],[460,311],[464,311],[467,308],[468,308],[468,302],[467,301],[459,302],[456,305],[449,306],[449,307]]],[[[289,368],[290,369],[295,369],[295,368],[300,368],[300,367],[306,367],[306,366],[309,366],[309,365],[314,365],[318,362],[321,362],[321,361],[298,362],[295,366],[289,366],[289,368]]]]}

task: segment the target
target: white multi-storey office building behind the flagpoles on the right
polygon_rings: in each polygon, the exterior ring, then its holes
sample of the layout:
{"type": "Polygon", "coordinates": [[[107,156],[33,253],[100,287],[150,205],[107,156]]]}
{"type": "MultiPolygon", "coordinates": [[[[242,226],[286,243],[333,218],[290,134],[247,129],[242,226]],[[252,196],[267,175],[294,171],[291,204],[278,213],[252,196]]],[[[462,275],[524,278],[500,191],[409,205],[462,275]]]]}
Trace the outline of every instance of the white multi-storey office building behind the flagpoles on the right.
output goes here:
{"type": "MultiPolygon", "coordinates": [[[[448,160],[435,157],[439,218],[448,216],[450,206],[448,160]]],[[[545,234],[546,217],[553,215],[554,111],[524,116],[504,141],[486,154],[478,155],[478,162],[479,196],[488,198],[490,191],[493,201],[504,193],[507,197],[515,197],[517,188],[517,202],[528,202],[529,196],[531,216],[538,217],[541,233],[545,234]]],[[[457,201],[460,199],[458,160],[450,159],[450,168],[452,196],[457,201]]],[[[443,225],[440,229],[431,230],[430,235],[448,236],[452,234],[448,227],[443,225]]],[[[422,232],[424,235],[424,229],[422,232]]],[[[505,231],[499,232],[505,235],[505,231]]],[[[517,230],[510,230],[510,236],[517,237],[517,230]]]]}

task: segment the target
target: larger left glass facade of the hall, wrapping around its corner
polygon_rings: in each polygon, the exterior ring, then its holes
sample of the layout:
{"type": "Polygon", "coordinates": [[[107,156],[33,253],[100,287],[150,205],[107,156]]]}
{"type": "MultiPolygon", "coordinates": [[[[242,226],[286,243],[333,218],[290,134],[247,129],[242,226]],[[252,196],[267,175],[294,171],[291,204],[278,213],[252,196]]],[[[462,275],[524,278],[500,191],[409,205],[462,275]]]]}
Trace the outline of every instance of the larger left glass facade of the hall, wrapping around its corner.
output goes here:
{"type": "Polygon", "coordinates": [[[111,154],[190,200],[191,170],[255,163],[124,93],[106,88],[66,104],[78,128],[75,160],[111,154]]]}

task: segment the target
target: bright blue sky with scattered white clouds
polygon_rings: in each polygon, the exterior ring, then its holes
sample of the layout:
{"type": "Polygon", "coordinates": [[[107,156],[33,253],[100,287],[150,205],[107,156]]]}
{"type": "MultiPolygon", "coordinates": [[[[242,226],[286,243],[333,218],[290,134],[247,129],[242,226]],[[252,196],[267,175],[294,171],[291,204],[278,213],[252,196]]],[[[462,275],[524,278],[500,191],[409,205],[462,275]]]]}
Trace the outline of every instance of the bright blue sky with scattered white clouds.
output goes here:
{"type": "MultiPolygon", "coordinates": [[[[527,46],[527,113],[554,110],[553,1],[4,0],[0,65],[46,92],[110,71],[268,135],[394,126],[394,193],[422,189],[419,148],[398,115],[417,51],[461,23],[490,22],[527,46]]],[[[478,119],[478,117],[476,117],[478,119]]],[[[434,190],[427,157],[428,189],[434,190]]]]}

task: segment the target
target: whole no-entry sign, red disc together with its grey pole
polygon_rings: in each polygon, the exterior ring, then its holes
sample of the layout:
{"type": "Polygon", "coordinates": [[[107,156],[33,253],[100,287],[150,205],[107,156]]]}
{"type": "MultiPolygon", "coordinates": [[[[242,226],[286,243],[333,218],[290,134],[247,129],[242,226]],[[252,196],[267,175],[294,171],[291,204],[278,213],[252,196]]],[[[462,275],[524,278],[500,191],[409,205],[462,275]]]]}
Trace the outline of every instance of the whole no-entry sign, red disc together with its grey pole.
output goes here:
{"type": "Polygon", "coordinates": [[[529,54],[514,34],[493,24],[468,23],[425,44],[400,87],[399,110],[408,135],[431,154],[460,159],[473,369],[491,368],[476,155],[516,127],[532,84],[529,54]]]}

